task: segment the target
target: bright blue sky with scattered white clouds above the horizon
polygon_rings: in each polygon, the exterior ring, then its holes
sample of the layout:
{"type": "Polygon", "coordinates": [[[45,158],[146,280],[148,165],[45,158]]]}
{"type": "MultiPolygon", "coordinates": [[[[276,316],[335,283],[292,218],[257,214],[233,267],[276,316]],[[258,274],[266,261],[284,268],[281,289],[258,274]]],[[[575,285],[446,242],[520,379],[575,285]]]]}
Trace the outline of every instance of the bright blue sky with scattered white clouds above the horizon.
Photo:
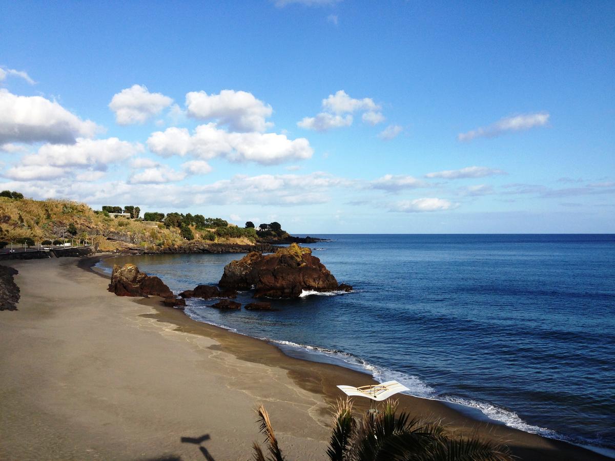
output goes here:
{"type": "Polygon", "coordinates": [[[1,9],[0,189],[297,233],[615,232],[613,2],[1,9]]]}

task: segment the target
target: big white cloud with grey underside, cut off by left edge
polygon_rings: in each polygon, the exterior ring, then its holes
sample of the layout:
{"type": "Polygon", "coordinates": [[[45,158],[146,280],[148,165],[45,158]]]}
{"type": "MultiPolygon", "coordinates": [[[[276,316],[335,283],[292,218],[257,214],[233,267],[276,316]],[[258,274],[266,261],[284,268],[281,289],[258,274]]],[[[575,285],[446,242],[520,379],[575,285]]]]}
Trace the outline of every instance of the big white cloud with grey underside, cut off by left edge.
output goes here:
{"type": "Polygon", "coordinates": [[[0,144],[74,143],[98,131],[91,120],[82,120],[56,101],[40,96],[17,96],[0,89],[0,144]]]}

